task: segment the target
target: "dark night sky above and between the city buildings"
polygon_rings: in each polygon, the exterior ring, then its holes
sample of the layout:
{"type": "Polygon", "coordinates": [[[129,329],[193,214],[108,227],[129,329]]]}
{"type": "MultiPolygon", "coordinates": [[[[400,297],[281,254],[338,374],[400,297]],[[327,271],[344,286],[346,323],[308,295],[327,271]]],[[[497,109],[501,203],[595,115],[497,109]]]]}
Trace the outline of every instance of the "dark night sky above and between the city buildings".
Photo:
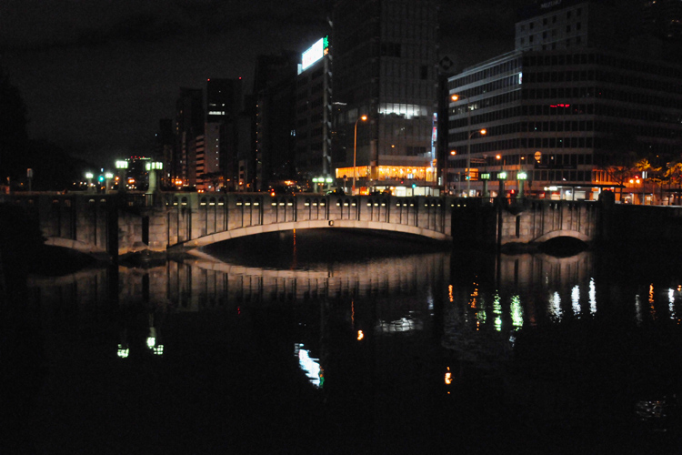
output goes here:
{"type": "MultiPolygon", "coordinates": [[[[0,67],[24,98],[29,136],[110,166],[149,155],[179,87],[243,77],[255,57],[326,34],[321,0],[4,0],[0,67]]],[[[444,1],[440,53],[468,66],[512,50],[519,5],[444,1]]]]}

